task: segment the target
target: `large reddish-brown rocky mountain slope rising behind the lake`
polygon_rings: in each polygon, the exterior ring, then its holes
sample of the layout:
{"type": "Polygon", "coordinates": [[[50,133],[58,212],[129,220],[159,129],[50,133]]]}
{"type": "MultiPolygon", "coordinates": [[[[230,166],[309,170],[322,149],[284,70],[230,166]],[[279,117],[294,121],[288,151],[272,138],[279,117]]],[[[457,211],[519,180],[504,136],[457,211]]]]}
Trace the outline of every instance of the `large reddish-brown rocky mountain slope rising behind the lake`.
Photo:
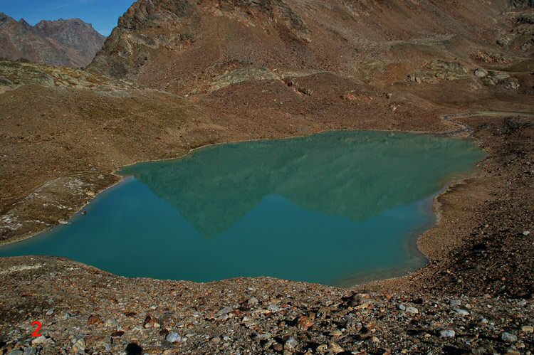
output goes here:
{"type": "MultiPolygon", "coordinates": [[[[90,68],[173,92],[322,71],[373,83],[473,67],[528,1],[139,0],[90,68]],[[434,65],[436,66],[436,65],[434,65]]],[[[502,53],[501,53],[502,52],[502,53]]],[[[521,53],[523,55],[525,53],[521,53]]],[[[466,73],[466,72],[465,72],[466,73]]]]}

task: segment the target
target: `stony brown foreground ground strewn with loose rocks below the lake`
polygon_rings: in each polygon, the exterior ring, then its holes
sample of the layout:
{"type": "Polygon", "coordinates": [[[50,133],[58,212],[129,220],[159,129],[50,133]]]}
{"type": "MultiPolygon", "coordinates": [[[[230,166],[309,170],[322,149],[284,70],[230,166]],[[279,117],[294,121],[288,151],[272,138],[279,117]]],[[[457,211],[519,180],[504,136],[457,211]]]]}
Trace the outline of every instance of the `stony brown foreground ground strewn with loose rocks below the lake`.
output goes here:
{"type": "Polygon", "coordinates": [[[531,300],[360,293],[268,278],[127,280],[68,260],[1,263],[10,275],[4,287],[20,292],[1,300],[9,354],[528,354],[534,341],[531,300]],[[32,338],[36,319],[43,336],[32,338]]]}

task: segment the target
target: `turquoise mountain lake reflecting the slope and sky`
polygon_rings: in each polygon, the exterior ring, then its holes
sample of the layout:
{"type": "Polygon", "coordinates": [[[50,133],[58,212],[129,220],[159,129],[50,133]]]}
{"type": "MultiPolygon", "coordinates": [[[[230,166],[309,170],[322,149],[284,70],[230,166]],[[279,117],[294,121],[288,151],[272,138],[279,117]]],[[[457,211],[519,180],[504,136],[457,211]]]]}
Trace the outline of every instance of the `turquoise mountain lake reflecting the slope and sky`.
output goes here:
{"type": "Polygon", "coordinates": [[[432,199],[484,152],[389,132],[206,147],[137,164],[66,226],[0,248],[128,277],[206,282],[272,276],[350,285],[417,270],[432,199]],[[375,276],[373,276],[375,275],[375,276]]]}

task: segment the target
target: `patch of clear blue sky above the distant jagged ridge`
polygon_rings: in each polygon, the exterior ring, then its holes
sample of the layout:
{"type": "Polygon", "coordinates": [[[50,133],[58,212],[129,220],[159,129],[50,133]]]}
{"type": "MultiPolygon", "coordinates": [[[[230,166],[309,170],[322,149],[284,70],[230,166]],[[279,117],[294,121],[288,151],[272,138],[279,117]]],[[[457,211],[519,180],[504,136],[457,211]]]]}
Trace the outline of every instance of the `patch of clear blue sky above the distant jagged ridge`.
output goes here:
{"type": "Polygon", "coordinates": [[[32,25],[41,20],[81,18],[104,36],[135,0],[0,0],[0,12],[32,25]]]}

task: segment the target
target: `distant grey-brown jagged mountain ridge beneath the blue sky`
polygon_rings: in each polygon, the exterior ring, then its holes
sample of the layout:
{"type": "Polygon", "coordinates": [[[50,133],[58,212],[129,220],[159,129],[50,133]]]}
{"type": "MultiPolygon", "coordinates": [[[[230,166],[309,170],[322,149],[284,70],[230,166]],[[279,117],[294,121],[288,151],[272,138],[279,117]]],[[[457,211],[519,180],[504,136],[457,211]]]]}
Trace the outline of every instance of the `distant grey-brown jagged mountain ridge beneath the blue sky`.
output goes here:
{"type": "Polygon", "coordinates": [[[41,21],[36,26],[0,14],[0,57],[85,67],[102,48],[105,36],[79,18],[41,21]]]}

